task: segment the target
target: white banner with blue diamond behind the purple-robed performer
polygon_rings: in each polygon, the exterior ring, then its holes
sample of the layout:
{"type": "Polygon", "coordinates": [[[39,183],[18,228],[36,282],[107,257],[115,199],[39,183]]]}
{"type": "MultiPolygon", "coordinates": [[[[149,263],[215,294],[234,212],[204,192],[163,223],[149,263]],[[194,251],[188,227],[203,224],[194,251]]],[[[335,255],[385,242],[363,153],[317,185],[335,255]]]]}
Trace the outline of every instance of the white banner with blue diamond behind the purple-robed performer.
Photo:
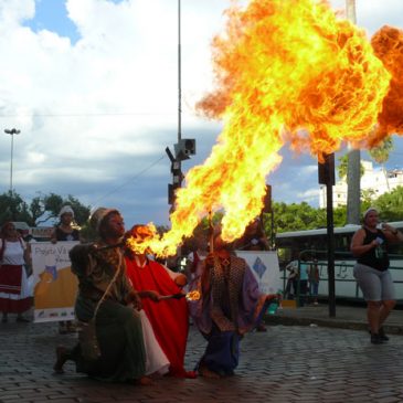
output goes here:
{"type": "Polygon", "coordinates": [[[276,251],[235,251],[235,253],[246,261],[262,293],[277,294],[283,289],[276,251]]]}

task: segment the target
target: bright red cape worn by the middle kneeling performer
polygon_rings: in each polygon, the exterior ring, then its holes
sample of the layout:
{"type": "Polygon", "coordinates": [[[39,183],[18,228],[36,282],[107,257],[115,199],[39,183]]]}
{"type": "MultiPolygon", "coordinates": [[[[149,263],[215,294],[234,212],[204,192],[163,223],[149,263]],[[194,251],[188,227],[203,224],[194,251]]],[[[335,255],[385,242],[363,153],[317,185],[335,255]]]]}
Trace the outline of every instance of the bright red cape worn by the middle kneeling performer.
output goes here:
{"type": "MultiPolygon", "coordinates": [[[[135,259],[126,257],[126,266],[127,276],[138,291],[156,290],[160,295],[181,291],[166,268],[157,262],[148,261],[145,267],[139,267],[135,259]]],[[[142,307],[151,322],[156,338],[171,364],[170,373],[174,377],[185,377],[183,360],[189,331],[185,299],[166,299],[153,303],[149,298],[144,298],[142,307]]]]}

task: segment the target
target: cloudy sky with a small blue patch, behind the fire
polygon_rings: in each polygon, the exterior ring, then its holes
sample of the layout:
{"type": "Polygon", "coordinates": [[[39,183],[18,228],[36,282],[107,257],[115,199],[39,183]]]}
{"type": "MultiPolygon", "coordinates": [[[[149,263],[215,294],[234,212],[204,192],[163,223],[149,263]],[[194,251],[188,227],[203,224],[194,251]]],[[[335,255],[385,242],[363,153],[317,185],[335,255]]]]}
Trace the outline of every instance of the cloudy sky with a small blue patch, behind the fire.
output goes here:
{"type": "MultiPolygon", "coordinates": [[[[284,0],[287,1],[287,0],[284,0]]],[[[242,1],[242,3],[246,3],[242,1]]],[[[332,0],[344,9],[344,0],[332,0]]],[[[213,35],[230,0],[181,0],[182,137],[197,140],[187,171],[202,163],[220,123],[194,113],[212,85],[213,35]]],[[[403,29],[402,0],[357,0],[371,36],[403,29]]],[[[178,0],[0,0],[0,193],[26,201],[50,192],[118,208],[131,226],[168,224],[166,147],[178,139],[178,0]]],[[[341,150],[341,153],[346,150],[341,150]]],[[[317,161],[285,147],[267,178],[276,201],[318,205],[317,161]]],[[[395,138],[389,167],[402,167],[395,138]]]]}

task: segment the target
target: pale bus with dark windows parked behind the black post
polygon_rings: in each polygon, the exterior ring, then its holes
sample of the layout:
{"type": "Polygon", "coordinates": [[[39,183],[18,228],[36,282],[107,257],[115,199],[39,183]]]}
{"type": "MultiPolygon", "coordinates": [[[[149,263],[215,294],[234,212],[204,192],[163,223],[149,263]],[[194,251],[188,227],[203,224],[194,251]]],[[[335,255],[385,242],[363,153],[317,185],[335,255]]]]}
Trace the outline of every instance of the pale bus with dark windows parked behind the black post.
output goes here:
{"type": "MultiPolygon", "coordinates": [[[[403,232],[403,221],[389,223],[403,232]]],[[[353,277],[356,258],[350,252],[351,238],[360,225],[349,224],[335,227],[335,293],[336,298],[362,300],[362,293],[353,277]]],[[[319,297],[328,296],[328,238],[327,229],[283,232],[276,235],[276,248],[279,267],[283,269],[283,280],[286,282],[286,265],[291,261],[306,261],[309,265],[312,259],[318,261],[319,266],[319,297]]],[[[390,271],[394,282],[396,299],[403,303],[403,244],[390,245],[390,271]]]]}

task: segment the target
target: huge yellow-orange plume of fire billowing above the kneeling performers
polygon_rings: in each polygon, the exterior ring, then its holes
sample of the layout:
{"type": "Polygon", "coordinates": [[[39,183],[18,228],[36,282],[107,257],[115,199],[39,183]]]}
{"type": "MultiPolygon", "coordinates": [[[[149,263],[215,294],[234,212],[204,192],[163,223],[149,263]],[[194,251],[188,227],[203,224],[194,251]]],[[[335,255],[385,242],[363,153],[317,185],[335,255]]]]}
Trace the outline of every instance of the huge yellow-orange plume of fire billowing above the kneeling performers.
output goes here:
{"type": "Polygon", "coordinates": [[[252,0],[226,14],[226,30],[213,41],[216,91],[198,105],[223,119],[224,129],[205,162],[187,174],[171,230],[152,241],[157,254],[176,253],[219,209],[223,238],[240,237],[262,210],[266,177],[286,141],[319,160],[344,141],[362,146],[378,116],[390,132],[382,118],[402,99],[390,87],[391,74],[397,81],[402,73],[383,60],[379,41],[375,55],[364,31],[338,19],[326,1],[252,0]],[[383,104],[386,94],[391,102],[383,104]]]}

